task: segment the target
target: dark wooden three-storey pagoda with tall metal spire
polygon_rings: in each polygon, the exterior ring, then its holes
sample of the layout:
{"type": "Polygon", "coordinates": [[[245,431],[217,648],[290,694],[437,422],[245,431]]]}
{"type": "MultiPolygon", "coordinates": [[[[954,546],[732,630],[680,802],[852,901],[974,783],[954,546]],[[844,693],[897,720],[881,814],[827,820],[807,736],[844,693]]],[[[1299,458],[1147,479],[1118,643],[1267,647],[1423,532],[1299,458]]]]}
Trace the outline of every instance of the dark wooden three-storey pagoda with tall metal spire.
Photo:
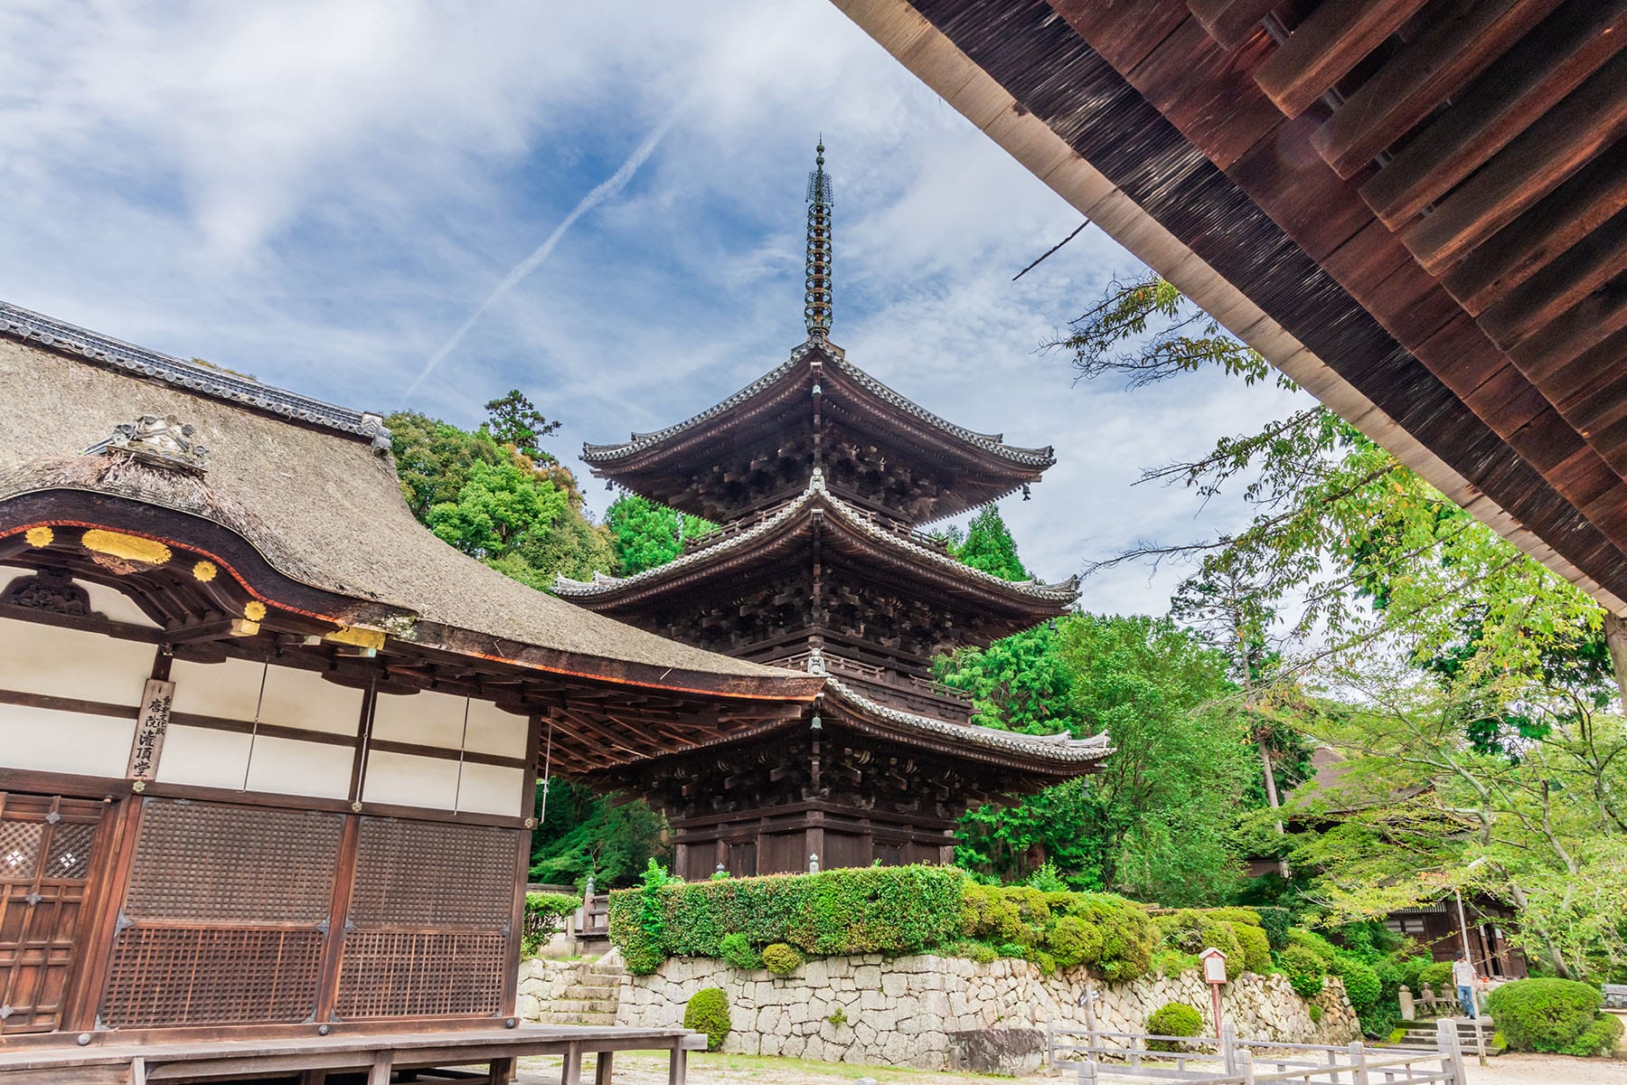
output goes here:
{"type": "Polygon", "coordinates": [[[800,717],[659,758],[607,752],[587,774],[665,810],[677,870],[703,878],[874,861],[952,862],[968,805],[1092,771],[1106,735],[970,722],[932,680],[937,652],[1066,613],[1077,581],[1010,582],[918,530],[1040,478],[1051,449],[1005,444],[918,407],[830,343],[830,179],[809,181],[807,330],[791,358],[724,402],[625,444],[592,472],[722,524],[630,577],[561,579],[560,595],[662,636],[809,673],[800,717]]]}

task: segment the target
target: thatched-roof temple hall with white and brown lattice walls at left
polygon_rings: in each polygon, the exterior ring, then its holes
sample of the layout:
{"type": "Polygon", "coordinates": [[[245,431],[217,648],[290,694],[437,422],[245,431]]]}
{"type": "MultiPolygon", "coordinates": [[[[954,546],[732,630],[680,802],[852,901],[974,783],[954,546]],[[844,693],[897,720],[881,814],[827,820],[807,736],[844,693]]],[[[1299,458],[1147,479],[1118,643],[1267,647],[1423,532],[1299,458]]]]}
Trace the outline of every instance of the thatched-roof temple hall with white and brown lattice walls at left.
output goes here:
{"type": "Polygon", "coordinates": [[[513,1026],[539,774],[823,683],[443,545],[377,416],[5,304],[0,403],[0,1049],[513,1026]]]}

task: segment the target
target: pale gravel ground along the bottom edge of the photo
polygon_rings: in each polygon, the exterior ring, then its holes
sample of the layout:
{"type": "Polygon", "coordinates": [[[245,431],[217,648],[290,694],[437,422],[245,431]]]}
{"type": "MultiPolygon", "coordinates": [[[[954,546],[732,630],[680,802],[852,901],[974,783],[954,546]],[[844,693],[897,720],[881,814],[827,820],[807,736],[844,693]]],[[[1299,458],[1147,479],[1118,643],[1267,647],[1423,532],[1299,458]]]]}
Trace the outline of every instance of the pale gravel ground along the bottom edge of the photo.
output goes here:
{"type": "MultiPolygon", "coordinates": [[[[1627,1085],[1627,1059],[1568,1059],[1554,1054],[1505,1054],[1481,1069],[1474,1056],[1464,1059],[1468,1085],[1627,1085]]],[[[693,1085],[849,1085],[857,1077],[874,1077],[879,1085],[992,1085],[1014,1078],[965,1074],[929,1074],[880,1065],[848,1065],[841,1062],[809,1062],[805,1059],[773,1059],[731,1054],[691,1054],[693,1085]]],[[[592,1082],[592,1061],[582,1067],[582,1080],[592,1082]]],[[[1027,1085],[1069,1078],[1033,1077],[1027,1085]]],[[[1128,1085],[1134,1078],[1114,1078],[1128,1085]]],[[[558,1085],[560,1059],[522,1059],[519,1085],[558,1085]]],[[[617,1085],[665,1085],[667,1057],[620,1054],[615,1062],[617,1085]]]]}

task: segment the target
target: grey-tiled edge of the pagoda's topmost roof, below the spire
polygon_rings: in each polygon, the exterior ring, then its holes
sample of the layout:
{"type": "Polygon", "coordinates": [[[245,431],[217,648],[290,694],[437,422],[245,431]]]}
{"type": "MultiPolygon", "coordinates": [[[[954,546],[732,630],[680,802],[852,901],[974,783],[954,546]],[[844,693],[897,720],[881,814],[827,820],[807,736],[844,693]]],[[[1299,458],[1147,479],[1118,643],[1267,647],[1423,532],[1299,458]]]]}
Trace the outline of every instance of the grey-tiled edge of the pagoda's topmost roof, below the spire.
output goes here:
{"type": "Polygon", "coordinates": [[[937,431],[940,436],[952,438],[955,442],[966,446],[968,452],[973,455],[978,454],[992,455],[999,460],[1004,460],[1010,467],[1017,467],[1025,472],[1032,472],[1035,475],[1056,464],[1056,454],[1054,454],[1056,449],[1051,446],[1030,449],[1030,447],[1005,444],[1004,434],[976,433],[965,426],[958,426],[945,418],[940,418],[939,415],[934,415],[932,412],[926,410],[914,400],[908,399],[900,392],[895,392],[893,389],[887,387],[866,371],[849,363],[846,353],[840,346],[835,346],[833,343],[828,343],[823,338],[809,338],[805,343],[792,350],[791,356],[784,363],[781,363],[774,369],[770,369],[768,373],[765,373],[757,381],[745,386],[734,395],[708,407],[706,410],[691,418],[685,418],[683,421],[675,423],[672,426],[665,426],[664,429],[656,429],[651,433],[635,433],[628,441],[623,441],[620,444],[582,444],[582,460],[594,468],[595,475],[604,475],[607,468],[613,468],[617,465],[625,464],[626,460],[631,460],[636,455],[652,452],[659,449],[659,446],[662,444],[669,444],[672,441],[685,438],[700,429],[704,423],[709,423],[735,408],[740,408],[750,403],[752,400],[768,395],[781,382],[789,379],[802,366],[802,363],[807,361],[809,356],[814,355],[815,351],[823,358],[830,359],[830,363],[843,377],[849,379],[867,395],[874,397],[885,407],[900,410],[909,415],[911,418],[926,423],[929,429],[937,431]]]}

